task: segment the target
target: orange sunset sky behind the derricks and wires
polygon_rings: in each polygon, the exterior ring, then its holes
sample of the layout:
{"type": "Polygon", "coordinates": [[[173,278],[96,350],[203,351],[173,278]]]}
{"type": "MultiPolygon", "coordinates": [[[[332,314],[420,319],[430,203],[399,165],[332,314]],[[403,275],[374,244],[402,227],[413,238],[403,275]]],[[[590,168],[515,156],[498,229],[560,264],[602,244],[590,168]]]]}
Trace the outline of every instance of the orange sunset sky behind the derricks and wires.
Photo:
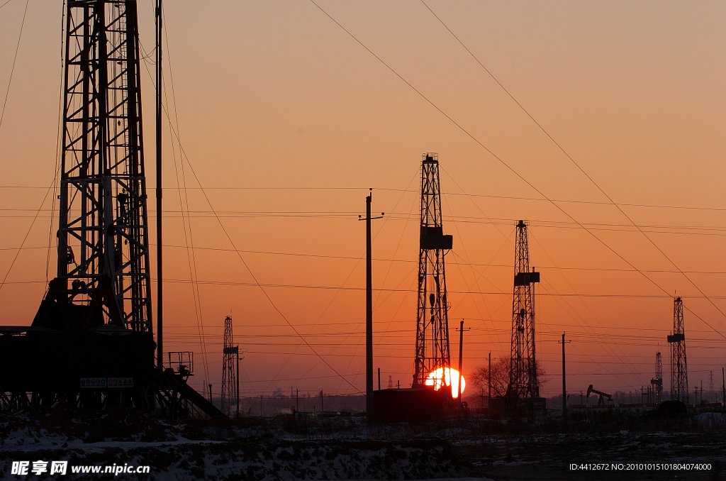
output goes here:
{"type": "MultiPolygon", "coordinates": [[[[657,350],[668,392],[674,294],[686,307],[690,392],[701,381],[708,389],[710,371],[721,386],[724,2],[315,1],[320,8],[309,0],[164,2],[165,103],[179,133],[178,141],[165,121],[165,348],[195,352],[193,386],[211,382],[219,392],[222,327],[231,313],[244,352],[242,395],[364,391],[358,216],[369,187],[374,212],[386,213],[373,227],[374,365],[383,387],[388,376],[409,386],[425,152],[439,154],[444,233],[454,236],[446,255],[452,352],[454,327],[464,319],[471,328],[465,375],[489,351],[509,353],[515,222],[525,219],[530,262],[542,272],[542,395],[562,389],[563,331],[572,341],[568,392],[589,384],[640,391],[654,376],[657,350]]],[[[147,53],[152,7],[139,0],[147,53]]],[[[9,85],[0,124],[4,325],[32,321],[57,228],[48,188],[62,4],[29,1],[9,84],[24,9],[24,0],[0,8],[3,100],[9,85]]],[[[152,187],[154,65],[147,60],[152,187]]],[[[153,205],[150,216],[154,225],[153,205]]],[[[51,278],[55,262],[53,248],[51,278]]]]}

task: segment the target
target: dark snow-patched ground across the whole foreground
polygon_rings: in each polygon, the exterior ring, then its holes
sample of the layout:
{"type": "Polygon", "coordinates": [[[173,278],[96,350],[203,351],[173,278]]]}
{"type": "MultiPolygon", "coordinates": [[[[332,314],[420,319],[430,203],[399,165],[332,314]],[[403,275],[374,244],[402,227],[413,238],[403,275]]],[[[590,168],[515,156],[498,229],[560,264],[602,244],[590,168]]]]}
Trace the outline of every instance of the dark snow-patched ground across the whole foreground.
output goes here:
{"type": "Polygon", "coordinates": [[[603,413],[567,424],[470,417],[368,426],[360,418],[279,416],[226,425],[174,423],[122,408],[27,409],[0,413],[0,478],[726,480],[725,419],[720,413],[675,419],[603,413]],[[30,474],[33,461],[61,460],[68,461],[65,476],[30,474]],[[29,461],[29,474],[12,474],[13,461],[29,461]],[[73,466],[114,464],[150,466],[150,472],[71,472],[73,466]]]}

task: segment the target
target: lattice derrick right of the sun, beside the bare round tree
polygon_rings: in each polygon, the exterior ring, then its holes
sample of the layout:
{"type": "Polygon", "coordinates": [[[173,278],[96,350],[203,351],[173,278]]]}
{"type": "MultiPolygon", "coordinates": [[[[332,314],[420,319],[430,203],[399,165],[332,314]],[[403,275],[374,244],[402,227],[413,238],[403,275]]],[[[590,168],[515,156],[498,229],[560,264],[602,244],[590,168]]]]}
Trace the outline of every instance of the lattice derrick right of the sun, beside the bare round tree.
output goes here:
{"type": "Polygon", "coordinates": [[[529,269],[527,225],[517,224],[514,256],[514,299],[512,304],[512,358],[510,361],[510,399],[539,397],[537,358],[534,355],[534,283],[539,272],[529,269]]]}

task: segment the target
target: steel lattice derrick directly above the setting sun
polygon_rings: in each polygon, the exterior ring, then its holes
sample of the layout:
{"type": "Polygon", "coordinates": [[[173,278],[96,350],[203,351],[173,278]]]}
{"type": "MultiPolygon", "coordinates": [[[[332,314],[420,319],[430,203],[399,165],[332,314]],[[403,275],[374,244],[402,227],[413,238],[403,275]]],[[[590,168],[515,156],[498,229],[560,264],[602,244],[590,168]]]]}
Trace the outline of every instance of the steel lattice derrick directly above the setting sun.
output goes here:
{"type": "Polygon", "coordinates": [[[413,387],[423,387],[428,374],[439,368],[442,368],[443,379],[444,369],[451,365],[444,251],[451,249],[452,243],[452,235],[444,235],[441,225],[439,158],[436,153],[425,153],[421,166],[421,227],[413,387]]]}

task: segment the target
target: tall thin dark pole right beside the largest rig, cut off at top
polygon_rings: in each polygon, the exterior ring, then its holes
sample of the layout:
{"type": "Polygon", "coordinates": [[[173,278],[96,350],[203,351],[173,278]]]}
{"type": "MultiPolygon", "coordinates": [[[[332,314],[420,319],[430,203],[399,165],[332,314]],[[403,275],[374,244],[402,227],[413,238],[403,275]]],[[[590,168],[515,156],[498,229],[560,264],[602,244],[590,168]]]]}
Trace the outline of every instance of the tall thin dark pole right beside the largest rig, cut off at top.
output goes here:
{"type": "Polygon", "coordinates": [[[163,242],[161,237],[161,95],[163,76],[161,73],[161,1],[156,0],[156,363],[163,370],[163,242]]]}

